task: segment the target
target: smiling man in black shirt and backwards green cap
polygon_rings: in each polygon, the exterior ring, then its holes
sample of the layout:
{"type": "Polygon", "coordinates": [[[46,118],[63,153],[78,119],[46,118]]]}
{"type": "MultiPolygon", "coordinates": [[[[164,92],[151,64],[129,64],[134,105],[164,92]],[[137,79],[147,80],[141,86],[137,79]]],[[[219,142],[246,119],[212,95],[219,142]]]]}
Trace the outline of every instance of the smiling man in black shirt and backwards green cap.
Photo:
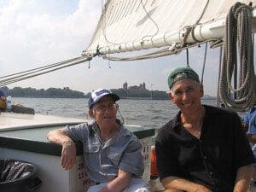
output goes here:
{"type": "Polygon", "coordinates": [[[247,191],[253,154],[239,116],[202,105],[203,86],[190,67],[174,70],[168,85],[180,111],[155,140],[166,191],[247,191]]]}

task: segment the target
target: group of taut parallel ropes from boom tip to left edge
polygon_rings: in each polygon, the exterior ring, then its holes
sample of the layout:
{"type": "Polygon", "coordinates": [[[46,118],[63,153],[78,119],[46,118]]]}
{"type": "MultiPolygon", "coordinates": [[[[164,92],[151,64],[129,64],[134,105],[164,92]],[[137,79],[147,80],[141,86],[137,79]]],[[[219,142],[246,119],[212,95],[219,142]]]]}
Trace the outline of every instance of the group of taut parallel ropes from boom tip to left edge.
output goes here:
{"type": "Polygon", "coordinates": [[[24,72],[6,75],[3,77],[0,77],[0,79],[1,79],[0,87],[5,86],[7,84],[13,84],[13,83],[21,81],[21,80],[30,79],[30,78],[33,78],[33,77],[36,77],[38,75],[42,75],[45,73],[54,72],[61,68],[77,65],[77,64],[83,63],[85,61],[90,61],[90,59],[91,58],[89,58],[89,57],[80,56],[80,57],[76,57],[76,58],[73,58],[73,59],[70,59],[67,61],[61,61],[61,62],[57,62],[54,64],[50,64],[50,65],[47,65],[44,67],[33,68],[31,70],[27,70],[24,72]]]}

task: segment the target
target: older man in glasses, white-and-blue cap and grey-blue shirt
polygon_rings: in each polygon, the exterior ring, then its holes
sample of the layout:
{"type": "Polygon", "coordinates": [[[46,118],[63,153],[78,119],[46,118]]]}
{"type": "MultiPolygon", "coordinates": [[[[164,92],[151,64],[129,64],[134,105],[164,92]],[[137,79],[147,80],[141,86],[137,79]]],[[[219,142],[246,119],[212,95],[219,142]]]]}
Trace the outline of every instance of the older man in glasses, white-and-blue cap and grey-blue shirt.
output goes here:
{"type": "Polygon", "coordinates": [[[96,185],[88,191],[149,192],[143,181],[142,145],[131,131],[116,119],[119,96],[110,90],[95,90],[89,98],[92,124],[66,126],[50,131],[48,139],[62,146],[61,165],[71,169],[75,163],[76,147],[82,142],[86,172],[96,185]]]}

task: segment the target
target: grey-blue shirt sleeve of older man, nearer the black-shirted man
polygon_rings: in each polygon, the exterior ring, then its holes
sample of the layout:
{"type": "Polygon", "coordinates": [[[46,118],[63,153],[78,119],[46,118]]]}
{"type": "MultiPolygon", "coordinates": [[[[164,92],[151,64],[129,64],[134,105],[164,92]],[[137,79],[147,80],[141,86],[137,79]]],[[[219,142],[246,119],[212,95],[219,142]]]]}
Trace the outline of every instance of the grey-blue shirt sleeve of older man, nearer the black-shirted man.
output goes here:
{"type": "Polygon", "coordinates": [[[142,144],[134,135],[126,146],[119,162],[119,169],[131,172],[137,177],[143,176],[144,163],[142,155],[142,144]]]}

